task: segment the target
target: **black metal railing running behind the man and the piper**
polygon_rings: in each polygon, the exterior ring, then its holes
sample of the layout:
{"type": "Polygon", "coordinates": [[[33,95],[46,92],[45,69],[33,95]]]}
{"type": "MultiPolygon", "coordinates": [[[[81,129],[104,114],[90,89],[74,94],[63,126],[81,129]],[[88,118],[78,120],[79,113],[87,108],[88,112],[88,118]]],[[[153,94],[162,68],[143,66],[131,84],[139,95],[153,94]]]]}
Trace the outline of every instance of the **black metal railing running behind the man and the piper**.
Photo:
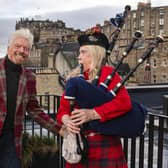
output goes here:
{"type": "MultiPolygon", "coordinates": [[[[38,100],[44,111],[56,120],[60,96],[39,95],[38,100]]],[[[125,157],[129,168],[167,168],[168,167],[168,116],[148,113],[144,135],[123,139],[125,157]]],[[[55,136],[25,115],[24,131],[40,137],[52,136],[59,145],[59,167],[64,167],[61,157],[62,138],[55,136]]]]}

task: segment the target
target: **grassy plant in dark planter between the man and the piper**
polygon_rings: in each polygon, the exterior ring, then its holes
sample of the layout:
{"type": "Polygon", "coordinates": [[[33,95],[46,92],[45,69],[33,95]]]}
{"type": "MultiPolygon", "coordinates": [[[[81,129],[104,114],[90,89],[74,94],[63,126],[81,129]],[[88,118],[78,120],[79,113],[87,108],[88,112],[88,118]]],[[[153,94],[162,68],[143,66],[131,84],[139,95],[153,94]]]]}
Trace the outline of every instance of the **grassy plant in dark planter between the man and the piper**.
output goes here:
{"type": "Polygon", "coordinates": [[[59,167],[58,147],[54,138],[23,133],[22,168],[59,167]]]}

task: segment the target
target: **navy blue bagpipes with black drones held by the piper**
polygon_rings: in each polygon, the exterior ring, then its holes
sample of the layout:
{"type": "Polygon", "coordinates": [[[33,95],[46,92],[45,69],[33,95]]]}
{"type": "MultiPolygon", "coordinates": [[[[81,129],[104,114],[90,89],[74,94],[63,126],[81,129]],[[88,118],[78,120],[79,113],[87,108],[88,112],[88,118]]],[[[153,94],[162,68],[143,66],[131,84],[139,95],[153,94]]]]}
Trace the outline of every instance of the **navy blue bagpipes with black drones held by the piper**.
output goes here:
{"type": "MultiPolygon", "coordinates": [[[[124,19],[129,10],[130,7],[126,6],[123,15],[117,15],[116,19],[111,19],[111,22],[113,24],[115,23],[115,25],[117,25],[118,28],[113,36],[112,42],[109,45],[109,49],[107,50],[106,56],[109,56],[112,49],[114,48],[120,29],[124,24],[124,19]]],[[[92,83],[85,81],[85,79],[83,78],[82,66],[81,66],[81,75],[79,77],[70,78],[66,82],[64,98],[69,100],[71,111],[74,107],[74,102],[76,102],[79,108],[94,108],[106,102],[112,101],[112,99],[116,97],[119,90],[123,87],[125,82],[129,79],[129,77],[151,55],[153,49],[157,47],[159,43],[163,42],[163,38],[161,36],[157,36],[154,39],[154,41],[150,43],[149,47],[142,54],[140,59],[138,59],[137,65],[131,68],[129,73],[119,83],[117,83],[117,85],[112,90],[107,91],[108,85],[110,84],[119,66],[122,64],[123,59],[128,55],[128,53],[133,48],[134,43],[140,37],[141,33],[137,31],[135,33],[133,40],[123,52],[122,58],[119,61],[119,63],[114,67],[111,74],[107,76],[107,79],[103,83],[100,83],[99,86],[97,86],[97,84],[99,82],[99,77],[101,75],[101,69],[103,65],[105,65],[106,63],[105,60],[102,61],[102,66],[98,71],[95,80],[93,80],[92,83]]],[[[126,114],[106,122],[100,122],[99,120],[90,121],[88,122],[89,128],[104,135],[117,135],[126,138],[133,138],[140,136],[144,131],[145,117],[147,114],[147,110],[142,104],[134,100],[131,100],[131,102],[132,102],[132,109],[126,114]]],[[[63,157],[69,163],[78,163],[83,157],[86,156],[87,142],[84,136],[83,137],[82,136],[83,136],[82,134],[80,135],[76,134],[77,149],[75,149],[73,154],[72,151],[70,151],[69,153],[65,151],[64,148],[65,143],[63,143],[63,149],[64,149],[63,157]]],[[[66,149],[68,149],[68,147],[66,149]]]]}

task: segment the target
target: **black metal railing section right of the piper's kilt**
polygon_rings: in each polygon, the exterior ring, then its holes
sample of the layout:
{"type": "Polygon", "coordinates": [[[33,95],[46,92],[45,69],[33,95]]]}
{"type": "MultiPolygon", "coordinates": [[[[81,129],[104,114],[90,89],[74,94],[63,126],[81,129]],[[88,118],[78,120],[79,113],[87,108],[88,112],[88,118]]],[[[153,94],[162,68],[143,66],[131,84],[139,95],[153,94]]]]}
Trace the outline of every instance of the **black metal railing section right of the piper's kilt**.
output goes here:
{"type": "Polygon", "coordinates": [[[144,135],[123,139],[129,168],[168,167],[168,116],[148,113],[144,135]]]}

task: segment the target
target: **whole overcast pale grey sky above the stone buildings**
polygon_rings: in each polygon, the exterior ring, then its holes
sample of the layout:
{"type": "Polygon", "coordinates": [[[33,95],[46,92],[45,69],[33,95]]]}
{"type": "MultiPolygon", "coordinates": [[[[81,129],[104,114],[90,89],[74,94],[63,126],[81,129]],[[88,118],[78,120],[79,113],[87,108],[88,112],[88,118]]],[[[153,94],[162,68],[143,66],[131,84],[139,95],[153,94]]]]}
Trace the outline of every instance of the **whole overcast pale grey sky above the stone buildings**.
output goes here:
{"type": "MultiPolygon", "coordinates": [[[[122,13],[126,5],[150,0],[0,0],[0,56],[8,36],[20,18],[62,20],[67,27],[86,30],[122,13]]],[[[168,6],[168,0],[151,0],[152,7],[168,6]]]]}

